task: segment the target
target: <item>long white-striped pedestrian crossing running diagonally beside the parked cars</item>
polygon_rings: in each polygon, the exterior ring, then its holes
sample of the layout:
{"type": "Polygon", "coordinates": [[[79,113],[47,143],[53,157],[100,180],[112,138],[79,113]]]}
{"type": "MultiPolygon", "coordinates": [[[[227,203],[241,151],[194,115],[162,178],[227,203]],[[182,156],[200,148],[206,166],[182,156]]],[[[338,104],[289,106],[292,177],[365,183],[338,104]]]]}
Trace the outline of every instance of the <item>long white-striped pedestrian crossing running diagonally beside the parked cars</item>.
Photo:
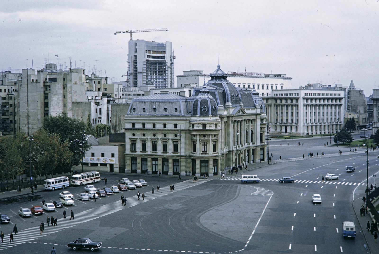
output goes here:
{"type": "MultiPolygon", "coordinates": [[[[196,186],[208,181],[211,181],[211,179],[199,179],[197,182],[193,182],[193,179],[189,179],[183,182],[178,182],[177,184],[174,184],[175,186],[174,192],[179,192],[180,190],[188,189],[190,187],[193,187],[193,186],[196,186]]],[[[127,201],[126,206],[122,206],[121,200],[118,200],[110,204],[88,209],[83,212],[75,213],[74,220],[68,219],[70,215],[69,213],[67,213],[67,218],[65,220],[63,220],[63,218],[58,219],[57,226],[47,226],[47,224],[45,224],[45,231],[43,231],[42,234],[40,234],[41,231],[39,231],[39,225],[37,225],[31,228],[19,231],[17,235],[14,235],[14,243],[13,242],[8,243],[10,234],[6,235],[4,237],[5,242],[0,243],[0,250],[2,251],[4,249],[8,249],[13,246],[20,245],[22,243],[39,240],[40,238],[46,235],[51,235],[56,232],[60,232],[64,229],[71,228],[81,223],[85,223],[87,221],[94,220],[94,219],[103,217],[105,215],[109,215],[111,213],[127,209],[128,207],[133,207],[138,204],[145,203],[147,201],[159,198],[161,196],[168,195],[170,193],[172,193],[170,191],[170,186],[161,187],[160,192],[157,192],[155,190],[154,194],[152,194],[151,192],[145,193],[146,195],[144,198],[145,200],[142,200],[142,197],[140,197],[140,199],[138,200],[137,195],[135,195],[130,198],[127,198],[128,201],[127,201]]],[[[41,218],[42,221],[44,221],[44,219],[45,217],[41,218]]]]}

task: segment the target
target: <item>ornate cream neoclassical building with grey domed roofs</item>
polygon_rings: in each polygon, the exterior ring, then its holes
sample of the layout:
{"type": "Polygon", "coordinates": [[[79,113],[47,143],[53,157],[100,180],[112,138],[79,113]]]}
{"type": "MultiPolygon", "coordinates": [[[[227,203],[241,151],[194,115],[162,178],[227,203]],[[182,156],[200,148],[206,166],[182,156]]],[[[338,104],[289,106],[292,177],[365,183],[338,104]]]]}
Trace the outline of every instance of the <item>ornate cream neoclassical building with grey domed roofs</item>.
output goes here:
{"type": "Polygon", "coordinates": [[[133,99],[125,115],[126,172],[212,176],[266,161],[262,98],[235,87],[220,65],[210,77],[191,97],[157,93],[133,99]]]}

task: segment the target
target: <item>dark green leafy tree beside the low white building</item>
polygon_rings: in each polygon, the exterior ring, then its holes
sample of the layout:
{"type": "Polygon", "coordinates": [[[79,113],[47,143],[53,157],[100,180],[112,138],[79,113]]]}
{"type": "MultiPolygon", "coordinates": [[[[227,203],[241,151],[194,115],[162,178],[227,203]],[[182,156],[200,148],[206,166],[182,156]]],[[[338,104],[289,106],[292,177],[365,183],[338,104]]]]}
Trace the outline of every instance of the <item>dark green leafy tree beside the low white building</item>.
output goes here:
{"type": "Polygon", "coordinates": [[[50,133],[60,135],[61,143],[68,142],[72,152],[71,160],[64,162],[64,172],[71,171],[73,165],[79,165],[83,154],[91,148],[86,142],[86,124],[83,121],[72,119],[66,115],[56,115],[44,118],[43,128],[50,133]]]}

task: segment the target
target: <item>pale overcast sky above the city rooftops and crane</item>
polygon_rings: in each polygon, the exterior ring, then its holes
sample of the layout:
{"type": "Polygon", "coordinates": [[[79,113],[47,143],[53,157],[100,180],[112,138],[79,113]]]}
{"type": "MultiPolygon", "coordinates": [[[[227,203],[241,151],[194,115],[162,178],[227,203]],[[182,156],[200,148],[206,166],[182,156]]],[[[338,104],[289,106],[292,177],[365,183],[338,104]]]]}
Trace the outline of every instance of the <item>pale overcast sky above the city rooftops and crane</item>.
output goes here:
{"type": "MultiPolygon", "coordinates": [[[[129,34],[171,41],[183,70],[286,73],[293,86],[351,80],[379,88],[379,2],[2,0],[0,70],[41,69],[45,60],[125,80],[129,34]],[[81,60],[81,62],[80,62],[81,60]],[[100,72],[101,71],[101,72],[100,72]]],[[[64,67],[63,67],[64,69],[64,67]]],[[[116,81],[116,79],[115,79],[116,81]]],[[[176,80],[175,80],[176,82],[176,80]]]]}

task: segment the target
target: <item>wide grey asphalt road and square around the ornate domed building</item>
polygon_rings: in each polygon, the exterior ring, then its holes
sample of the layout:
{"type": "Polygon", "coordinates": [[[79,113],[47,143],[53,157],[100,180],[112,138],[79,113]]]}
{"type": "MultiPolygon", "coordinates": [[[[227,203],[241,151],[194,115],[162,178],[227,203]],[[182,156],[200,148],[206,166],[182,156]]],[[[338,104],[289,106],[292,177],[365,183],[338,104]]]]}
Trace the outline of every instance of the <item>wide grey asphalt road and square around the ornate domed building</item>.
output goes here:
{"type": "MultiPolygon", "coordinates": [[[[251,170],[261,180],[258,184],[241,184],[238,176],[227,175],[225,180],[178,181],[176,178],[144,178],[150,186],[123,193],[128,206],[122,207],[120,193],[93,201],[75,200],[73,207],[60,208],[48,213],[56,216],[58,227],[45,225],[44,236],[39,236],[38,227],[45,222],[46,214],[40,217],[21,218],[15,215],[20,207],[58,199],[58,193],[38,193],[37,200],[20,200],[17,203],[1,204],[0,212],[7,213],[19,232],[15,240],[24,243],[7,249],[4,253],[50,253],[55,246],[57,253],[74,253],[65,245],[79,237],[89,237],[103,244],[103,253],[150,253],[191,252],[229,253],[243,250],[246,253],[366,253],[365,239],[359,232],[359,224],[352,209],[354,199],[362,198],[366,188],[366,154],[350,153],[349,148],[324,147],[323,140],[304,140],[297,146],[293,140],[287,145],[272,141],[270,153],[282,161],[267,167],[251,170]],[[322,143],[322,146],[321,146],[322,143]],[[306,149],[306,150],[305,150],[306,149]],[[338,155],[338,150],[343,154],[338,155]],[[318,151],[326,156],[316,157],[318,151]],[[313,158],[302,159],[302,154],[312,152],[313,158]],[[301,154],[301,156],[299,155],[301,154]],[[289,159],[292,158],[292,159],[289,159]],[[279,159],[279,158],[278,158],[279,159]],[[356,171],[346,173],[345,167],[353,165],[356,171]],[[334,173],[335,181],[321,181],[322,176],[334,173]],[[277,179],[290,176],[295,183],[281,184],[277,179]],[[299,181],[301,180],[301,181],[299,181]],[[156,192],[160,184],[161,192],[156,192]],[[175,192],[169,192],[169,185],[175,192]],[[151,193],[151,186],[155,193],[151,193]],[[144,202],[138,201],[136,192],[146,192],[144,202]],[[318,193],[322,204],[312,204],[312,195],[318,193]],[[62,221],[63,209],[74,210],[74,221],[62,221]],[[357,226],[355,240],[342,237],[342,222],[353,221],[357,226]],[[72,225],[70,225],[70,223],[72,225]],[[35,233],[35,232],[37,233],[35,233]],[[27,232],[27,233],[25,233],[27,232]],[[49,232],[49,234],[47,234],[49,232]],[[19,238],[17,238],[19,237],[19,238]],[[22,240],[24,239],[24,240],[22,240]]],[[[379,171],[379,153],[369,153],[369,176],[379,171]]],[[[276,159],[276,158],[275,158],[276,159]]],[[[120,176],[107,176],[108,184],[118,184],[120,176]]],[[[183,179],[184,180],[184,179],[183,179]]],[[[373,178],[369,179],[369,185],[373,178]]],[[[104,187],[104,182],[95,186],[104,187]]],[[[75,196],[83,187],[66,190],[75,196]]],[[[1,230],[9,234],[13,224],[2,224],[1,230]]],[[[9,240],[6,241],[9,243],[9,240]]],[[[80,253],[83,253],[79,250],[80,253]]]]}

